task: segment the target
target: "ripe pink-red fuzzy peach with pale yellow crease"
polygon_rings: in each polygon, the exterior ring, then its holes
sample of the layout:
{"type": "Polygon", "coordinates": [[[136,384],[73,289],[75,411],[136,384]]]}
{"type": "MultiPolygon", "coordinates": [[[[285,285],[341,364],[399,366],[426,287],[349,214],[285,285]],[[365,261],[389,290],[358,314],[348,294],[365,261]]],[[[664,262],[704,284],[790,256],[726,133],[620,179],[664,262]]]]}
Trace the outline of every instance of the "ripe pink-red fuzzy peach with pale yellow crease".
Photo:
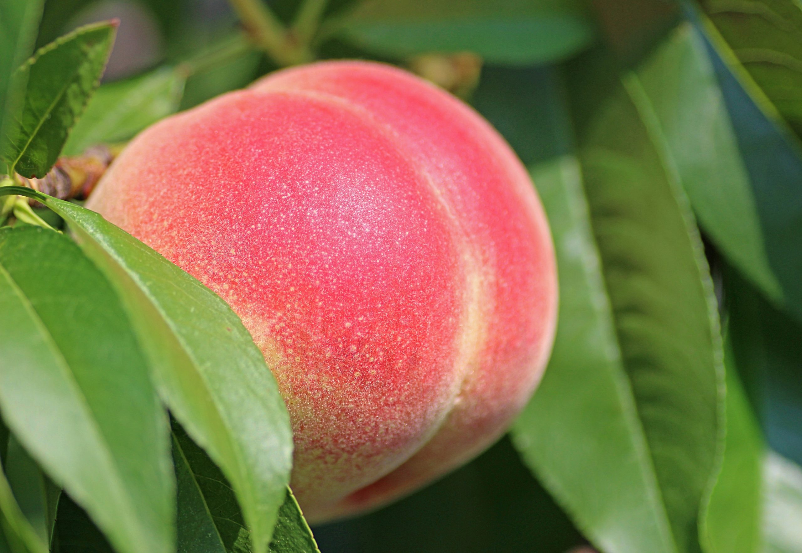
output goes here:
{"type": "Polygon", "coordinates": [[[529,176],[469,107],[392,67],[280,71],[165,119],[89,207],[242,318],[311,520],[472,458],[549,356],[557,280],[529,176]]]}

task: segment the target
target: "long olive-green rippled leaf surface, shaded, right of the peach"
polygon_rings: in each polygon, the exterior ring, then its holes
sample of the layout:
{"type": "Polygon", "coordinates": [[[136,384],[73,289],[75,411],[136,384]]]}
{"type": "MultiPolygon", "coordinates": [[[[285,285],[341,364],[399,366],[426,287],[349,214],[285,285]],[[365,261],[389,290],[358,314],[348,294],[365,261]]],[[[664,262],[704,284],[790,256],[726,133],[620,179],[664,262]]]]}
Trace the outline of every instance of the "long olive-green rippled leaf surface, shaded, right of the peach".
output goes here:
{"type": "Polygon", "coordinates": [[[702,243],[650,131],[622,87],[589,124],[581,160],[621,361],[672,541],[698,551],[700,505],[723,438],[723,359],[702,243]]]}

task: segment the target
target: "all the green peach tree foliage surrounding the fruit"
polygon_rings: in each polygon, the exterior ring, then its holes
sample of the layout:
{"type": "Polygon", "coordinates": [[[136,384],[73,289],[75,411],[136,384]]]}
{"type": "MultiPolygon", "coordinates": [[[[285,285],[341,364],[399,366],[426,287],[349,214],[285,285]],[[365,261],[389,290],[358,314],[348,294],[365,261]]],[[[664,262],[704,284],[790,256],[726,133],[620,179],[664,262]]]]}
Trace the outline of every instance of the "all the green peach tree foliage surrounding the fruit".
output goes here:
{"type": "Polygon", "coordinates": [[[464,51],[549,217],[552,357],[508,438],[322,551],[802,551],[797,2],[142,0],[163,63],[103,84],[88,3],[0,3],[0,551],[318,547],[237,315],[16,175],[283,65],[464,51]]]}

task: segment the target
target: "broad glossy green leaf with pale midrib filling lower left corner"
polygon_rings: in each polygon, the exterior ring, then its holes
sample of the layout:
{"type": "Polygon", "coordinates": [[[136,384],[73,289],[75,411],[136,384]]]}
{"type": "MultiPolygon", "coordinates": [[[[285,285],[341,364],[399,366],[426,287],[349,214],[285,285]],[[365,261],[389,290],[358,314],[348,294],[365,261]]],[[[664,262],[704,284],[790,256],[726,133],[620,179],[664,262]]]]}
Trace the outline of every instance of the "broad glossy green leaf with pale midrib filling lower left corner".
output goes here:
{"type": "Polygon", "coordinates": [[[124,553],[172,549],[168,425],[114,289],[66,236],[0,231],[0,409],[124,553]]]}

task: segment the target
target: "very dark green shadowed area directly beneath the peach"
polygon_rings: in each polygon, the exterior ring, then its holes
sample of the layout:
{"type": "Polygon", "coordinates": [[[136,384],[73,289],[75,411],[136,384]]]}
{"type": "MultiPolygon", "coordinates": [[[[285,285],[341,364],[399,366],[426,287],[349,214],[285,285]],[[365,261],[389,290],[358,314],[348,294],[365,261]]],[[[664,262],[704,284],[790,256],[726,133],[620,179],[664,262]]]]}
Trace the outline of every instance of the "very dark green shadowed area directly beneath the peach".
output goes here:
{"type": "Polygon", "coordinates": [[[399,503],[314,534],[324,553],[564,553],[584,541],[508,438],[399,503]]]}

